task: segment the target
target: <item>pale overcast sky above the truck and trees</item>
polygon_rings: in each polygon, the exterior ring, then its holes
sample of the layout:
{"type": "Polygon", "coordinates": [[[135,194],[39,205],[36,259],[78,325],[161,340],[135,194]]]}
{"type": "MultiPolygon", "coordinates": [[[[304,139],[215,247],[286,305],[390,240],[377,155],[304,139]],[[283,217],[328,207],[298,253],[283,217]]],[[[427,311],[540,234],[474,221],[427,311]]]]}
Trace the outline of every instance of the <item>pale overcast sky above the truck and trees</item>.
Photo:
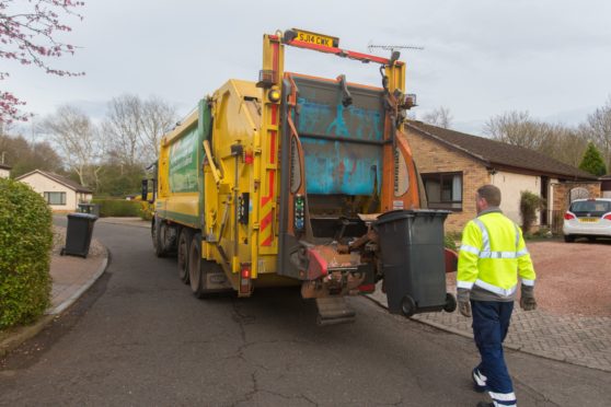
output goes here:
{"type": "MultiPolygon", "coordinates": [[[[123,93],[155,95],[186,114],[230,78],[255,81],[262,35],[299,27],[339,37],[345,49],[402,51],[416,116],[448,107],[458,130],[482,133],[507,111],[576,125],[611,94],[611,1],[606,0],[85,0],[66,42],[82,47],[53,61],[85,71],[58,78],[2,60],[4,90],[38,117],[62,104],[94,118],[123,93]]],[[[388,56],[388,53],[380,54],[388,56]]],[[[376,65],[287,49],[286,69],[380,85],[376,65]]]]}

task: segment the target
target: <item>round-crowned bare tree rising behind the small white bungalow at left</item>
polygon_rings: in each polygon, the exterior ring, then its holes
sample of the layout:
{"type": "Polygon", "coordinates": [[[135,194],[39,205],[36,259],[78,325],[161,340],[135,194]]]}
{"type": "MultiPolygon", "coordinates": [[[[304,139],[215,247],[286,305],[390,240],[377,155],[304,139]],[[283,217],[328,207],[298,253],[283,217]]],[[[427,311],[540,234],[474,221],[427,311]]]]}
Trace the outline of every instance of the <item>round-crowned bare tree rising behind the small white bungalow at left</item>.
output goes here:
{"type": "Polygon", "coordinates": [[[103,150],[97,129],[87,114],[64,105],[41,124],[41,129],[49,135],[68,170],[77,173],[81,185],[96,184],[103,150]]]}

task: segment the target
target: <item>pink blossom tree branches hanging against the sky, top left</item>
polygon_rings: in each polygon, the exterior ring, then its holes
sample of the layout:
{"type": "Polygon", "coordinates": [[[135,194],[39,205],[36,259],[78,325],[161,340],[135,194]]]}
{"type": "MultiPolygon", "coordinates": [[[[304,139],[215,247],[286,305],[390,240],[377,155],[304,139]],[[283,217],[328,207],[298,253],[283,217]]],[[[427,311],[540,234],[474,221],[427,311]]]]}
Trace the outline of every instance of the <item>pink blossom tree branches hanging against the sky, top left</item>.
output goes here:
{"type": "MultiPolygon", "coordinates": [[[[59,77],[84,74],[49,65],[53,58],[74,54],[76,47],[59,40],[58,34],[72,30],[62,22],[66,18],[82,20],[77,12],[82,5],[78,0],[0,0],[0,58],[59,77]]],[[[8,77],[9,72],[0,70],[0,81],[8,77]]],[[[0,124],[27,120],[31,115],[20,112],[23,105],[25,102],[0,89],[0,124]]]]}

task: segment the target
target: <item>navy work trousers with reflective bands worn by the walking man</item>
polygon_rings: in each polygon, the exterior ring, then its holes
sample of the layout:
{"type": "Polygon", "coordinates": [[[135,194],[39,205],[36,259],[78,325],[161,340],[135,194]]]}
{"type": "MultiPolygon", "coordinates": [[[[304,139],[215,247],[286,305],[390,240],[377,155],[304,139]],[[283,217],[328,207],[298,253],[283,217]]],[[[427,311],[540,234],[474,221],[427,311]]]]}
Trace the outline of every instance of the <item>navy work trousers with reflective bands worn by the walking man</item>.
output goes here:
{"type": "Polygon", "coordinates": [[[482,357],[476,369],[485,376],[486,389],[495,406],[515,406],[514,385],[503,352],[514,302],[471,301],[471,309],[473,336],[482,357]]]}

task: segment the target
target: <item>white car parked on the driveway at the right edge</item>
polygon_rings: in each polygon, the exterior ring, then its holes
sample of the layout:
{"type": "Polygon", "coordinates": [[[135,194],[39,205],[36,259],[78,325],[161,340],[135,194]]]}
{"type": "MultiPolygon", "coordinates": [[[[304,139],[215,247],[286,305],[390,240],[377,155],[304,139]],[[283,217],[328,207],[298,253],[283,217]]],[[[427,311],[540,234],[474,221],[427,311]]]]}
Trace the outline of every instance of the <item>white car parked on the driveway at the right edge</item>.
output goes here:
{"type": "Polygon", "coordinates": [[[565,242],[611,237],[611,199],[575,199],[564,213],[562,231],[565,242]]]}

